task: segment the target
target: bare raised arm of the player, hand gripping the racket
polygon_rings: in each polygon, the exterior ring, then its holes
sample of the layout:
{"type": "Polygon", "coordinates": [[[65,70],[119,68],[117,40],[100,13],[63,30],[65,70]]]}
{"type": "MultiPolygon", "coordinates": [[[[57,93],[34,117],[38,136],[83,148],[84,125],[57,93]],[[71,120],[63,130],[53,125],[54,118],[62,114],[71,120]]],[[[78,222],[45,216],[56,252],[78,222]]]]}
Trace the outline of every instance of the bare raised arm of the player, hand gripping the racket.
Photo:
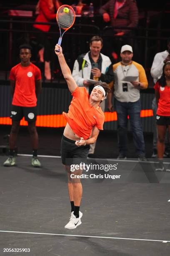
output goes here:
{"type": "Polygon", "coordinates": [[[65,80],[68,84],[68,89],[72,93],[72,92],[74,92],[75,88],[77,87],[77,84],[76,84],[75,80],[72,77],[71,70],[70,70],[70,68],[68,67],[68,65],[65,61],[65,57],[62,54],[62,48],[58,44],[56,44],[56,46],[55,46],[55,54],[58,56],[58,60],[59,60],[59,63],[60,63],[62,74],[63,74],[63,76],[64,76],[64,78],[65,78],[65,80]],[[58,50],[60,50],[60,51],[58,52],[58,50]]]}

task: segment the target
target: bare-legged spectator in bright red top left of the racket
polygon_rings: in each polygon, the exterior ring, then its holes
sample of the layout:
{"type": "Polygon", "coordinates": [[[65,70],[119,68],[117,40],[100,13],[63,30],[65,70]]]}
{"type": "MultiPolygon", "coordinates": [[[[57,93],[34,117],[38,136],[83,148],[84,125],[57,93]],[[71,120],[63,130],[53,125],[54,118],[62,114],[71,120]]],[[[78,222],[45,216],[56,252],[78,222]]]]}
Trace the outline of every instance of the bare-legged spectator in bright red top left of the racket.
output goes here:
{"type": "MultiPolygon", "coordinates": [[[[37,18],[35,22],[49,23],[56,18],[56,10],[60,7],[61,3],[58,0],[39,0],[36,6],[37,18]]],[[[50,30],[50,25],[34,24],[33,27],[36,31],[42,31],[44,33],[36,33],[37,41],[39,44],[39,57],[40,62],[45,62],[45,79],[51,80],[51,60],[54,53],[48,40],[47,32],[50,30]]]]}

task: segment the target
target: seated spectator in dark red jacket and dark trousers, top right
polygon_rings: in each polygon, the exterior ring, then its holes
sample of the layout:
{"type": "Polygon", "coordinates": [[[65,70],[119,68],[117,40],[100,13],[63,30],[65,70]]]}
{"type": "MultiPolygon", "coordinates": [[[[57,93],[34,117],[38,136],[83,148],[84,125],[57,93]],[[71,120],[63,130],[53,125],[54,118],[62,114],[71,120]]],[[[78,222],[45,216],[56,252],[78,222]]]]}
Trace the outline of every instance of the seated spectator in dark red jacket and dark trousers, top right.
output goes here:
{"type": "MultiPolygon", "coordinates": [[[[138,7],[135,0],[110,0],[100,8],[103,20],[110,26],[135,28],[138,25],[138,7]]],[[[133,45],[133,30],[113,28],[105,33],[106,54],[117,61],[120,47],[133,45]],[[110,37],[108,37],[111,35],[110,37]],[[128,36],[129,38],[126,38],[128,36]]]]}

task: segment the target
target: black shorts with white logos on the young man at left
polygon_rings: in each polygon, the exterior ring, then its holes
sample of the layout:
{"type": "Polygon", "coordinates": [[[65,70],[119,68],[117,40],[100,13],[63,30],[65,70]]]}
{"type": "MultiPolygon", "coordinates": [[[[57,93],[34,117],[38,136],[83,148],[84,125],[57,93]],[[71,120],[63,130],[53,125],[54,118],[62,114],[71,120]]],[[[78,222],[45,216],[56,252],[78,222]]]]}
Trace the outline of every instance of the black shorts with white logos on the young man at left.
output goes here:
{"type": "Polygon", "coordinates": [[[20,107],[12,105],[10,118],[12,118],[13,121],[20,121],[23,116],[25,121],[35,122],[37,119],[37,107],[20,107]]]}

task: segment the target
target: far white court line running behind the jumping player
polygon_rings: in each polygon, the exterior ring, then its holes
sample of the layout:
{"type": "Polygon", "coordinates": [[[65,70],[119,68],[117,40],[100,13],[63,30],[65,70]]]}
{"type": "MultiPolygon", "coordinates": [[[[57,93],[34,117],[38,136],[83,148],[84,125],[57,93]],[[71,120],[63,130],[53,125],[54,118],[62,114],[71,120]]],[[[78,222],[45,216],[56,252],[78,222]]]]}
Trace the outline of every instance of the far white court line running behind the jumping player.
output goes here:
{"type": "MultiPolygon", "coordinates": [[[[28,155],[28,154],[17,154],[18,156],[32,156],[32,155],[28,155]]],[[[49,157],[49,158],[61,158],[61,156],[43,156],[43,155],[38,155],[38,157],[49,157]]],[[[87,159],[93,159],[93,160],[107,160],[107,161],[118,161],[118,162],[135,162],[135,163],[150,163],[150,164],[154,164],[154,163],[158,163],[158,162],[154,162],[154,161],[138,161],[138,160],[119,160],[119,159],[106,159],[106,158],[89,158],[87,157],[87,159]]],[[[163,162],[163,164],[169,164],[169,162],[163,162]]]]}

